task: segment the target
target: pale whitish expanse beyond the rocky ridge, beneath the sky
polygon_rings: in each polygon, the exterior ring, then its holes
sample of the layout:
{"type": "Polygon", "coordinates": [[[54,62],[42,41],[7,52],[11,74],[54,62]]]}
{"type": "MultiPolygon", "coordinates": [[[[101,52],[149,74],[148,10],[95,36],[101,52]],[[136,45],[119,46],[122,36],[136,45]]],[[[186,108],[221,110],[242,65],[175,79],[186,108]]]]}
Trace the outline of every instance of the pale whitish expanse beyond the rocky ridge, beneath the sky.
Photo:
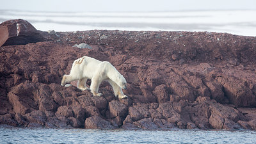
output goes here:
{"type": "Polygon", "coordinates": [[[31,12],[0,10],[0,23],[28,20],[41,31],[212,31],[256,36],[256,10],[173,12],[31,12]]]}

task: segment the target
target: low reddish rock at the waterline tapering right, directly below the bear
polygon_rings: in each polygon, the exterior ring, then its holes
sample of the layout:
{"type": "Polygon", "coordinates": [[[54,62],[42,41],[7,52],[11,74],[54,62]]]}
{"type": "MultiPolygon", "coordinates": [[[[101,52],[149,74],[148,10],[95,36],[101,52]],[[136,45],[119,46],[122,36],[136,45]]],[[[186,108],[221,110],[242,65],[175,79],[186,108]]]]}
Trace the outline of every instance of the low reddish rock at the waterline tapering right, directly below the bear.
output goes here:
{"type": "Polygon", "coordinates": [[[99,116],[92,116],[90,118],[86,118],[84,122],[84,127],[86,129],[116,129],[111,125],[110,122],[100,118],[99,116]]]}

